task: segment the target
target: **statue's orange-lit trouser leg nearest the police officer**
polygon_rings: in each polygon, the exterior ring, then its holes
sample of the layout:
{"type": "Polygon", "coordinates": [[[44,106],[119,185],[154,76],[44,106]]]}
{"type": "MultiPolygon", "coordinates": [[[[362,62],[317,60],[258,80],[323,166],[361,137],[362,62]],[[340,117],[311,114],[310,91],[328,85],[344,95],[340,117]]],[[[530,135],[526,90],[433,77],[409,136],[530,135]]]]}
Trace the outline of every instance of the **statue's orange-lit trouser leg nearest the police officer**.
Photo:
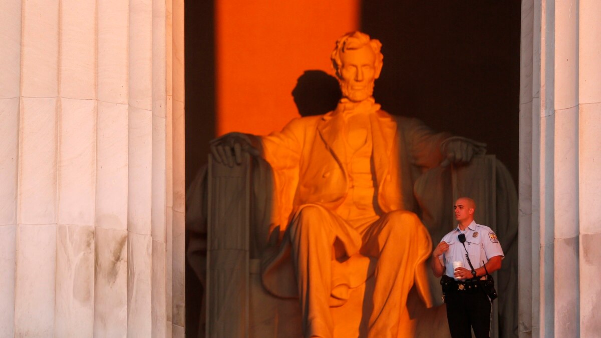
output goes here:
{"type": "Polygon", "coordinates": [[[393,211],[365,231],[364,241],[362,253],[378,257],[368,337],[410,336],[409,318],[402,315],[420,248],[430,245],[426,227],[412,212],[393,211]]]}

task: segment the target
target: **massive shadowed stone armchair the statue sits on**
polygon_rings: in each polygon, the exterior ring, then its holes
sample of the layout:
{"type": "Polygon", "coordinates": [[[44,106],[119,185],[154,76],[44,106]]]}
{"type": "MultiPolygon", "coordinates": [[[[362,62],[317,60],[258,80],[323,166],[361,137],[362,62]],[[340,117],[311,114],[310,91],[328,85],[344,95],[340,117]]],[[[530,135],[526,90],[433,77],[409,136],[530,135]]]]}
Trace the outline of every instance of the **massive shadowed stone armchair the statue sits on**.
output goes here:
{"type": "MultiPolygon", "coordinates": [[[[271,217],[276,205],[272,184],[269,165],[261,159],[247,156],[242,165],[230,168],[209,158],[188,191],[188,259],[205,288],[206,312],[200,321],[206,323],[206,337],[302,336],[298,301],[276,298],[261,284],[261,254],[278,241],[276,236],[269,239],[277,222],[271,217]]],[[[451,206],[455,198],[474,198],[476,220],[495,230],[505,252],[503,267],[495,276],[499,301],[493,303],[492,336],[514,336],[517,194],[507,169],[495,156],[479,155],[463,167],[427,171],[414,192],[435,244],[454,227],[451,206]]],[[[412,295],[407,306],[412,308],[417,337],[445,337],[448,328],[438,279],[432,276],[430,284],[438,307],[420,307],[412,295]]],[[[362,290],[355,290],[349,302],[361,301],[362,290]]],[[[345,306],[332,308],[334,317],[352,316],[345,313],[345,306]]],[[[341,331],[356,329],[337,328],[336,332],[344,336],[341,331]]]]}

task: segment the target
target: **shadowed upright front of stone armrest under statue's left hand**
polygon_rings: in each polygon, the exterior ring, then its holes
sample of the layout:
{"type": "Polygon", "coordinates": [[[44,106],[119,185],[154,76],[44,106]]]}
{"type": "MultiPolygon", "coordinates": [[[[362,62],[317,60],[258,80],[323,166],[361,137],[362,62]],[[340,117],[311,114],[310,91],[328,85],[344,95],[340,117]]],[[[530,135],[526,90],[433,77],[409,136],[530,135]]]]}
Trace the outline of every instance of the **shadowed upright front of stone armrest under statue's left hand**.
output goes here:
{"type": "Polygon", "coordinates": [[[249,324],[249,155],[232,168],[209,156],[207,189],[207,337],[244,337],[249,324]]]}

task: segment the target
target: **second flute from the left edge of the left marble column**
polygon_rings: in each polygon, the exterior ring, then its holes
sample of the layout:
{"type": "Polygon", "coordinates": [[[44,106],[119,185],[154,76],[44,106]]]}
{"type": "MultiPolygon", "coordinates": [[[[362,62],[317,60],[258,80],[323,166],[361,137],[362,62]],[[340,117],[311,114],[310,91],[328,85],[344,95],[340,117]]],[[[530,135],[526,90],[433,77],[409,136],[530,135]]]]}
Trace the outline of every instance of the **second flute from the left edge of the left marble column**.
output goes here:
{"type": "Polygon", "coordinates": [[[59,1],[23,1],[21,17],[14,336],[52,336],[59,195],[59,1]]]}

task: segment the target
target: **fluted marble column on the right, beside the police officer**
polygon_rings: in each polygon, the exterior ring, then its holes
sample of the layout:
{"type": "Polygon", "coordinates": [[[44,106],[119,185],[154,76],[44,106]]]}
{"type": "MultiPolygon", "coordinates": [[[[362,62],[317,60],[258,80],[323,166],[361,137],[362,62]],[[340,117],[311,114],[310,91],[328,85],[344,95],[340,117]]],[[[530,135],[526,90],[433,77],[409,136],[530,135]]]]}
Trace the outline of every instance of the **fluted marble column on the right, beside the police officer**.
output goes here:
{"type": "Polygon", "coordinates": [[[601,3],[522,1],[520,334],[601,330],[601,3]]]}

